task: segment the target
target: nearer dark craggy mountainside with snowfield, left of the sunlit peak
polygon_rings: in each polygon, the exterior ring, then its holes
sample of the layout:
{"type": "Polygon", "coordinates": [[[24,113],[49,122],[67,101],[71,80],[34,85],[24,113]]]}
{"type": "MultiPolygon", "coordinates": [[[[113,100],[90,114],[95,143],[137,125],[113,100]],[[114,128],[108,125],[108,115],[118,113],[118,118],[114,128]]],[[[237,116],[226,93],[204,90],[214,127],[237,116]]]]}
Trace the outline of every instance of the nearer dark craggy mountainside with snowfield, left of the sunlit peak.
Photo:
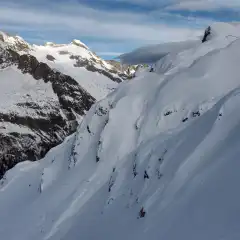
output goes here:
{"type": "Polygon", "coordinates": [[[0,48],[0,69],[0,92],[2,96],[9,94],[9,100],[1,99],[0,104],[2,177],[18,162],[42,158],[73,133],[78,116],[84,115],[95,99],[72,77],[29,54],[0,48]],[[14,93],[11,86],[5,88],[4,83],[10,85],[11,81],[15,81],[13,86],[21,83],[14,93]],[[32,91],[32,86],[36,90],[32,91]]]}

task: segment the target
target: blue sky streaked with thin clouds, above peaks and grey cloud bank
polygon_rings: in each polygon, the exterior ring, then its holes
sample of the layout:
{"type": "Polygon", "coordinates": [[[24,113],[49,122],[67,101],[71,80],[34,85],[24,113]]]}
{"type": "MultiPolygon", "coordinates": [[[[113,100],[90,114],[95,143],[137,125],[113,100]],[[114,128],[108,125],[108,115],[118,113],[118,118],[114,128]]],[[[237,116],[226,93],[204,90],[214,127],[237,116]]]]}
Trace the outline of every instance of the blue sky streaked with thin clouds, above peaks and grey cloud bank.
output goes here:
{"type": "Polygon", "coordinates": [[[80,39],[104,58],[194,39],[214,21],[240,21],[240,0],[0,0],[0,29],[27,41],[80,39]]]}

